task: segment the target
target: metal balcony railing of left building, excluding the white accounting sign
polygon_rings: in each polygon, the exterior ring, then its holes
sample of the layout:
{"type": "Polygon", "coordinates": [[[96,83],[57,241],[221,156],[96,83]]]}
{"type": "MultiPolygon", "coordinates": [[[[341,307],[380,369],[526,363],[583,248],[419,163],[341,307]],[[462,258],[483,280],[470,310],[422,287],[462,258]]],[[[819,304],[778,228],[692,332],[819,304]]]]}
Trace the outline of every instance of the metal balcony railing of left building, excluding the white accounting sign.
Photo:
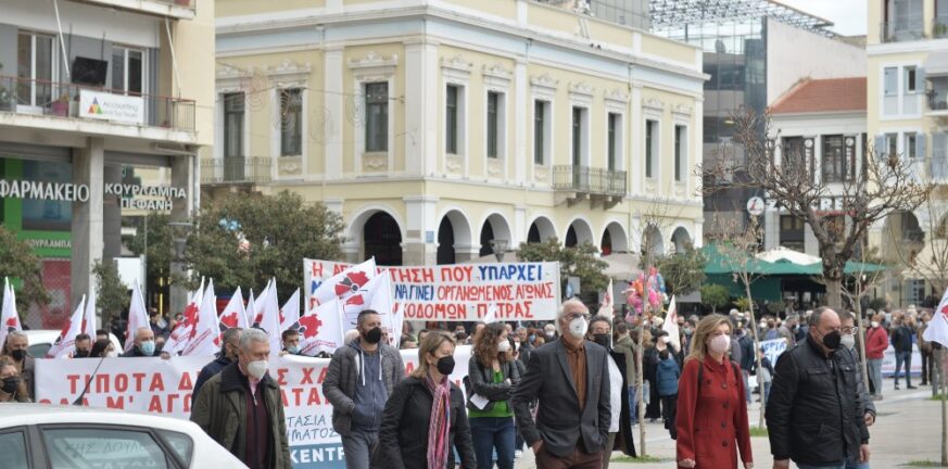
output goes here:
{"type": "MultiPolygon", "coordinates": [[[[194,130],[194,101],[85,85],[47,81],[0,75],[0,112],[42,114],[96,121],[112,121],[176,130],[194,130]],[[94,118],[80,109],[81,91],[140,99],[141,122],[94,118]]],[[[135,121],[135,119],[132,119],[135,121]]]]}

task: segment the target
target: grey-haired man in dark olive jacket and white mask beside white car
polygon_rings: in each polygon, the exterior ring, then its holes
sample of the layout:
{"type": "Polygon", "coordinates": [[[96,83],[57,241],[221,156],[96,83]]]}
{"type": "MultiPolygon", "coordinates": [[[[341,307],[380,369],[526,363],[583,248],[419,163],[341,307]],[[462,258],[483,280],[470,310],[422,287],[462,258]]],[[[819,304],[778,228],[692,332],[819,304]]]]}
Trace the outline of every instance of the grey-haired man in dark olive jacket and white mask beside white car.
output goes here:
{"type": "Polygon", "coordinates": [[[266,332],[240,334],[237,362],[211,377],[191,409],[191,421],[251,469],[290,469],[280,386],[267,373],[266,332]]]}

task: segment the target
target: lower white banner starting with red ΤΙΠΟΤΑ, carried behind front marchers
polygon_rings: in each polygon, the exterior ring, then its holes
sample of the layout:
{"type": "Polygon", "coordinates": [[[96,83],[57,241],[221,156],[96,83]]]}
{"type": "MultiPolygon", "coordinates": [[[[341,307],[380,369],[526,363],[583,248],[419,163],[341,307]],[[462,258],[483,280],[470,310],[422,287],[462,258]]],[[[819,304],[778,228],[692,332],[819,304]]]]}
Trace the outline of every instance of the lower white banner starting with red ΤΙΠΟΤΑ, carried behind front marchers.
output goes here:
{"type": "MultiPolygon", "coordinates": [[[[451,380],[462,391],[471,347],[458,346],[451,380]]],[[[418,365],[418,350],[401,351],[405,372],[418,365]]],[[[201,368],[213,357],[174,356],[170,359],[105,358],[94,378],[97,359],[36,360],[37,402],[71,404],[86,382],[83,402],[91,407],[143,411],[187,419],[191,390],[201,368]],[[91,379],[91,381],[89,381],[91,379]]],[[[332,405],[323,395],[328,358],[271,354],[269,373],[280,384],[287,418],[290,458],[294,469],[343,469],[342,443],[332,430],[332,405]]]]}

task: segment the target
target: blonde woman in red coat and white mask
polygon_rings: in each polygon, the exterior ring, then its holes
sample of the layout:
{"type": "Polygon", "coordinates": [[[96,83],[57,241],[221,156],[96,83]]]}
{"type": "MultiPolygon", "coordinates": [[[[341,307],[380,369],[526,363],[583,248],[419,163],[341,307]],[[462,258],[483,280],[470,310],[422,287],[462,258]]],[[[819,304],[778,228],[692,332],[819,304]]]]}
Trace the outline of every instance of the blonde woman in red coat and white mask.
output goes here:
{"type": "Polygon", "coordinates": [[[681,468],[754,467],[744,379],[730,360],[731,322],[721,315],[703,318],[692,340],[678,386],[678,465],[681,468]],[[701,383],[698,385],[698,369],[701,383]]]}

